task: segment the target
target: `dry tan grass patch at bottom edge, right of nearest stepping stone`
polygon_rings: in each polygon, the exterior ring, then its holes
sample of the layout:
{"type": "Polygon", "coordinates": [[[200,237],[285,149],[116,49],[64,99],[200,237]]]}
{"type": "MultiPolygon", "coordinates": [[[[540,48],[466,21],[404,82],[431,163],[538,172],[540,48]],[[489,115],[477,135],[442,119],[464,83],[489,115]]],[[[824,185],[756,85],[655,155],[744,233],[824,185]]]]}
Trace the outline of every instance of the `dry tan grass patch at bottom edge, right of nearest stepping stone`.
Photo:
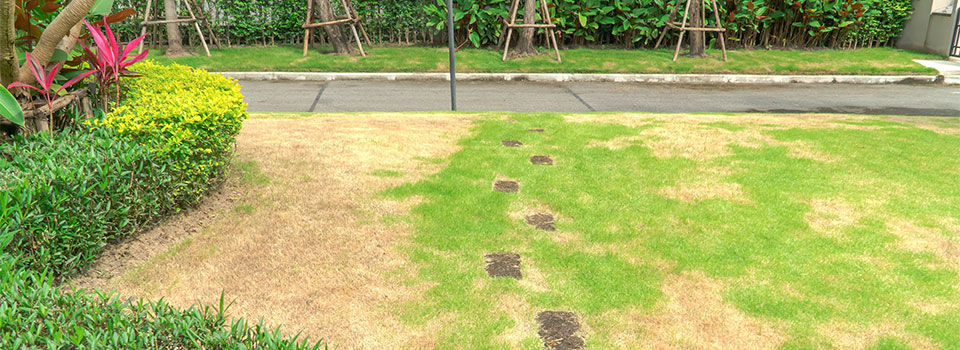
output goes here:
{"type": "Polygon", "coordinates": [[[700,273],[672,275],[664,282],[667,301],[642,316],[645,349],[773,349],[787,337],[763,320],[725,303],[720,282],[700,273]]]}

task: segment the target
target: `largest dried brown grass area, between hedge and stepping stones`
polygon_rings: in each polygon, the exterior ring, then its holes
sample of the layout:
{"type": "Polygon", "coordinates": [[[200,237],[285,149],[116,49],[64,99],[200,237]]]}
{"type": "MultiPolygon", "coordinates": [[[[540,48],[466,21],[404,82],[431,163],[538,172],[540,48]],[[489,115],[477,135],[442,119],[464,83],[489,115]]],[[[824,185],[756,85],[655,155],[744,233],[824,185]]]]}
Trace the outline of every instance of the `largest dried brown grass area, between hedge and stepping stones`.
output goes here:
{"type": "Polygon", "coordinates": [[[237,157],[259,162],[271,179],[249,186],[239,199],[255,203],[255,210],[224,208],[220,215],[227,219],[198,223],[190,244],[82,286],[162,297],[181,307],[215,304],[222,291],[234,301],[231,316],[262,316],[266,324],[282,325],[286,334],[302,331],[334,348],[430,347],[437,333],[430,328],[438,324],[411,329],[391,309],[423,291],[402,283],[409,271],[397,245],[409,228],[383,220],[406,213],[414,203],[376,194],[438,171],[442,164],[418,159],[455,152],[471,118],[378,114],[248,120],[237,140],[237,157]],[[370,175],[381,169],[404,175],[370,175]]]}

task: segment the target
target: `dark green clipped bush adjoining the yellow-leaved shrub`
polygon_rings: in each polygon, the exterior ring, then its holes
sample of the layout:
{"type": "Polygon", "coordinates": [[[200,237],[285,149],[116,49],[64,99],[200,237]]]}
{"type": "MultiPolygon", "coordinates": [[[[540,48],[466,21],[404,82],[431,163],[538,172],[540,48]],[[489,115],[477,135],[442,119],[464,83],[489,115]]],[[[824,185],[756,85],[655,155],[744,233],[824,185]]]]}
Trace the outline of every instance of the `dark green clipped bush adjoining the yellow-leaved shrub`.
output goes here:
{"type": "Polygon", "coordinates": [[[0,144],[0,234],[27,268],[68,275],[107,240],[174,211],[169,163],[109,129],[0,144]]]}

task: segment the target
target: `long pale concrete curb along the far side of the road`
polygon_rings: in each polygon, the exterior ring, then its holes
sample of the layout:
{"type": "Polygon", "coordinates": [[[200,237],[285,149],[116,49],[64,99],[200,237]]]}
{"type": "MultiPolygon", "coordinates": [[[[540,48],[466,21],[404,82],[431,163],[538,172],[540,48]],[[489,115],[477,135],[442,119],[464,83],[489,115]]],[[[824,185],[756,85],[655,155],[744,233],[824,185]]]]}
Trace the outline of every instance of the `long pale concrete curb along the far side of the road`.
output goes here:
{"type": "MultiPolygon", "coordinates": [[[[449,81],[448,73],[298,73],[223,72],[238,80],[255,81],[449,81]]],[[[567,74],[461,73],[458,81],[533,81],[544,83],[611,82],[654,84],[941,84],[942,75],[740,75],[740,74],[567,74]]],[[[960,84],[958,79],[951,79],[960,84]]]]}

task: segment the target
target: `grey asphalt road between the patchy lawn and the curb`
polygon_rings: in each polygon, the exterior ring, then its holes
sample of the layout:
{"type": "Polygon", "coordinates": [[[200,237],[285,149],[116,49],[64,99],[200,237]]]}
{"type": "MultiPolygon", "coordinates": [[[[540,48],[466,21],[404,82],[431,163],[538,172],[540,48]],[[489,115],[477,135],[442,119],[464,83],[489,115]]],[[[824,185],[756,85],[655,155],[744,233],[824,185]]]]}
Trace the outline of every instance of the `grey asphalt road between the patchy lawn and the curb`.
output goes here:
{"type": "MultiPolygon", "coordinates": [[[[450,108],[448,82],[241,81],[251,112],[407,112],[450,108]]],[[[461,82],[462,111],[853,113],[960,116],[940,85],[642,85],[461,82]]]]}

